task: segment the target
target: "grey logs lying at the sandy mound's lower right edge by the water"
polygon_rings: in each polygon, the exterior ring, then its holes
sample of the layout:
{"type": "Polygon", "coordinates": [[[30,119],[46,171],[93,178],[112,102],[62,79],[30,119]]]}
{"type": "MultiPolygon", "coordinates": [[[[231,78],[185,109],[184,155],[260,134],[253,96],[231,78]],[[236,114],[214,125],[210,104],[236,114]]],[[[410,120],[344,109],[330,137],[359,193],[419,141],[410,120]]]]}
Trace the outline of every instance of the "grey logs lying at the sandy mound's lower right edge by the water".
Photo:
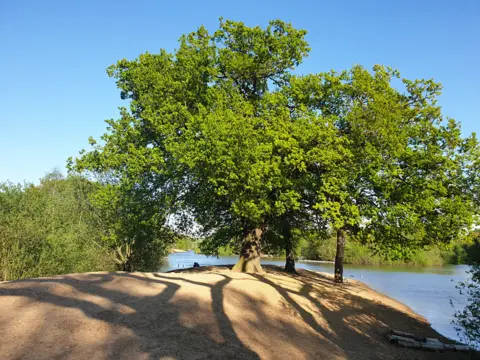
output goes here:
{"type": "Polygon", "coordinates": [[[445,344],[436,338],[428,338],[415,336],[398,330],[391,330],[387,334],[387,339],[392,344],[397,344],[402,347],[412,349],[422,349],[427,351],[456,351],[456,352],[470,352],[472,349],[464,344],[445,344]]]}

